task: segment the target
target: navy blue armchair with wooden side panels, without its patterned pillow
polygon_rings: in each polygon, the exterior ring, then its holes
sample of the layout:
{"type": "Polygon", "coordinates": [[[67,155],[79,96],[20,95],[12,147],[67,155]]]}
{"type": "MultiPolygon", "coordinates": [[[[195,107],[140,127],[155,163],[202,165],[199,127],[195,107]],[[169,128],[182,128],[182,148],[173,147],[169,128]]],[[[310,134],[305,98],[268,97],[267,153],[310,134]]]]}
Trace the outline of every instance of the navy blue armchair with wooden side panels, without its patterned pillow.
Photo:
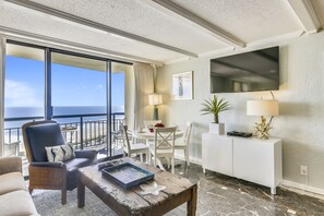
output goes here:
{"type": "Polygon", "coordinates": [[[29,161],[29,192],[34,189],[61,190],[61,202],[67,203],[67,190],[77,187],[81,167],[96,161],[96,151],[75,151],[65,161],[48,161],[45,147],[64,145],[61,128],[56,121],[34,121],[22,128],[29,161]]]}

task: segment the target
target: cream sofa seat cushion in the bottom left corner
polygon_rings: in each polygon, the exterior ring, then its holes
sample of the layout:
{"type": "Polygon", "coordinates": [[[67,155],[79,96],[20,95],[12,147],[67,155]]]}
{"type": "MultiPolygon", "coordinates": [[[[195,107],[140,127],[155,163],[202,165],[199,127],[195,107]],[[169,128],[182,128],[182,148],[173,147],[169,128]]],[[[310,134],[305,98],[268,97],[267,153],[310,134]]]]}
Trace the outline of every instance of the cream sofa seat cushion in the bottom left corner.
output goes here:
{"type": "Polygon", "coordinates": [[[27,191],[13,191],[0,195],[0,209],[3,216],[38,215],[27,191]]]}

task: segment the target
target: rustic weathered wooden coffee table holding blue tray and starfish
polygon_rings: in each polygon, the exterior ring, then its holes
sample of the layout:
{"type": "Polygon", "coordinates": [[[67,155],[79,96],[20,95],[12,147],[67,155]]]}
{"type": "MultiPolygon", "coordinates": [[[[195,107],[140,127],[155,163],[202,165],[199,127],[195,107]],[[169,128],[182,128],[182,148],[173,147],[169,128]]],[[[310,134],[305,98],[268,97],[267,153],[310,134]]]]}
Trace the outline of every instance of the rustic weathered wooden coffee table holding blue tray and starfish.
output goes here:
{"type": "Polygon", "coordinates": [[[163,171],[153,166],[123,158],[122,160],[134,164],[155,173],[157,184],[166,185],[159,195],[142,195],[142,189],[136,185],[124,190],[118,184],[101,176],[97,166],[79,169],[80,183],[77,187],[77,206],[84,207],[85,187],[94,192],[118,215],[163,215],[187,202],[187,215],[195,215],[196,211],[196,183],[189,179],[163,171]]]}

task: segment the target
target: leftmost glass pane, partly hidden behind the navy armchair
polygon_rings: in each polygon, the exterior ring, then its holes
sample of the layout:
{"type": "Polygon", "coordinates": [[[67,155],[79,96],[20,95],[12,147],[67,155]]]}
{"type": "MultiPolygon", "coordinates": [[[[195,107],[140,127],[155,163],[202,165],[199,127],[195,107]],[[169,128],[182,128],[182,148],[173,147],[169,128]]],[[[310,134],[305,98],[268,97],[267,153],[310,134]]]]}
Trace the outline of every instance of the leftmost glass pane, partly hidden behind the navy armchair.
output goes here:
{"type": "Polygon", "coordinates": [[[9,44],[4,81],[4,156],[25,157],[23,123],[44,118],[44,49],[9,44]]]}

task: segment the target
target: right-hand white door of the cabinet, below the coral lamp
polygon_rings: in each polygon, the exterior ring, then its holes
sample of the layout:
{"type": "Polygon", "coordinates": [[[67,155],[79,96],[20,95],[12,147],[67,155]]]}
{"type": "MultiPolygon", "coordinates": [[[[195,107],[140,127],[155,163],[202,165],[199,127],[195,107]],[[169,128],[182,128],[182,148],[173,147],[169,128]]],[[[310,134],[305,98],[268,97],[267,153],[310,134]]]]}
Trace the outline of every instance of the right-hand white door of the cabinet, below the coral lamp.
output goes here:
{"type": "Polygon", "coordinates": [[[233,176],[274,187],[274,144],[267,141],[233,139],[233,176]]]}

